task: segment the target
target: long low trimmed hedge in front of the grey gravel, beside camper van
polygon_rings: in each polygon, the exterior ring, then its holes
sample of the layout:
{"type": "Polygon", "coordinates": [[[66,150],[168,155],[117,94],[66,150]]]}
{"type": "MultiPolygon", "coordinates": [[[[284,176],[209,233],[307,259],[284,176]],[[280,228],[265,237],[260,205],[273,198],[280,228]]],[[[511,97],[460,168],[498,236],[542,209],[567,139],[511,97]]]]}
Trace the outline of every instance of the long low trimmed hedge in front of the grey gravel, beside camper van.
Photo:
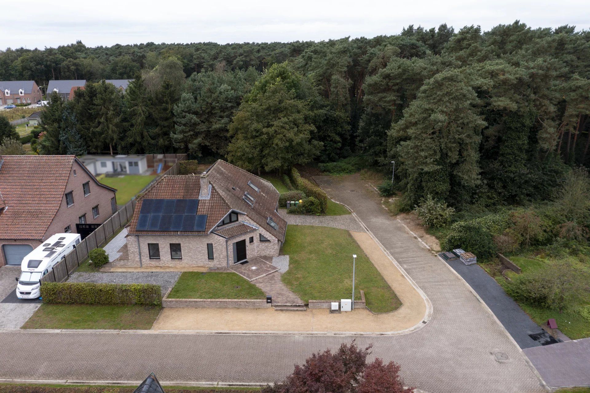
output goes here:
{"type": "Polygon", "coordinates": [[[162,305],[160,286],[154,284],[43,283],[41,298],[52,304],[162,305]]]}

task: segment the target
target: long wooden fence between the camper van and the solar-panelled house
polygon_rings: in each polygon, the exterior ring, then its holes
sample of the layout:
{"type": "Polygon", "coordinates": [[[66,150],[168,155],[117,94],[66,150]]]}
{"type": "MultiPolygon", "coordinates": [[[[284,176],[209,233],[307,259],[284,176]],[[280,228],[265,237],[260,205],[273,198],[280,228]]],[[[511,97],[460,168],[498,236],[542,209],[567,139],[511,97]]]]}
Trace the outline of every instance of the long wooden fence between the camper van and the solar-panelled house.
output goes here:
{"type": "MultiPolygon", "coordinates": [[[[163,175],[178,175],[180,167],[179,162],[184,161],[186,155],[178,156],[180,156],[178,162],[168,169],[168,171],[164,172],[163,175]]],[[[150,184],[145,186],[145,188],[140,191],[140,194],[152,188],[156,179],[153,179],[150,184]]],[[[88,253],[91,250],[106,243],[106,240],[114,234],[114,232],[119,230],[119,228],[124,227],[124,225],[127,224],[127,221],[131,220],[136,204],[137,202],[134,198],[113,214],[109,220],[104,221],[100,227],[96,228],[94,232],[81,241],[74,250],[70,251],[64,259],[55,264],[53,270],[41,277],[41,284],[54,282],[61,283],[70,278],[70,274],[74,273],[78,266],[80,266],[80,263],[88,257],[88,253]]]]}

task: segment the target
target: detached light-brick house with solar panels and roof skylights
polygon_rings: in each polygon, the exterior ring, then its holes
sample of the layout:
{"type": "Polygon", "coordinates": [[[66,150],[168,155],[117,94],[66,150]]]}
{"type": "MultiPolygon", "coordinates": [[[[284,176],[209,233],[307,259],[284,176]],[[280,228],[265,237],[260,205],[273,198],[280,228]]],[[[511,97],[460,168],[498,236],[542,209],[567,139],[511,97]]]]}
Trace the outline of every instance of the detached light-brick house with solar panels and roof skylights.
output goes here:
{"type": "Polygon", "coordinates": [[[225,161],[201,175],[163,176],[137,200],[127,225],[137,266],[228,267],[278,256],[287,222],[270,182],[225,161]]]}

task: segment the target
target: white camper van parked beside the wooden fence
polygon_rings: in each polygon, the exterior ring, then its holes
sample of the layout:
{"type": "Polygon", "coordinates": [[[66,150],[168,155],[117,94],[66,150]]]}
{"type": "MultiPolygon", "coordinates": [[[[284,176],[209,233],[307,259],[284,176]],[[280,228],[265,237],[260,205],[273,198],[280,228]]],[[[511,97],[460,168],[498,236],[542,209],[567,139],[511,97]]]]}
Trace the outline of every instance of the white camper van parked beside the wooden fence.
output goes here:
{"type": "Polygon", "coordinates": [[[77,233],[57,233],[22,258],[21,277],[17,278],[17,297],[40,297],[41,277],[53,270],[55,264],[76,248],[78,243],[80,235],[77,233]]]}

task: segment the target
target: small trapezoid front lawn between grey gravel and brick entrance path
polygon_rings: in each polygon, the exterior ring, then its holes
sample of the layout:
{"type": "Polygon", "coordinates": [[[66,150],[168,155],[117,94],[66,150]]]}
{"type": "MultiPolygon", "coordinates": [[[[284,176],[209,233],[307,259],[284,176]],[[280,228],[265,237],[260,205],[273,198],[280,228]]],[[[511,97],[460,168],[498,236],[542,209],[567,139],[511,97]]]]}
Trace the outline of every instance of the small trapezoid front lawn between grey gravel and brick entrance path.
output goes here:
{"type": "Polygon", "coordinates": [[[172,299],[264,299],[260,288],[237,273],[185,271],[176,281],[172,299]]]}

